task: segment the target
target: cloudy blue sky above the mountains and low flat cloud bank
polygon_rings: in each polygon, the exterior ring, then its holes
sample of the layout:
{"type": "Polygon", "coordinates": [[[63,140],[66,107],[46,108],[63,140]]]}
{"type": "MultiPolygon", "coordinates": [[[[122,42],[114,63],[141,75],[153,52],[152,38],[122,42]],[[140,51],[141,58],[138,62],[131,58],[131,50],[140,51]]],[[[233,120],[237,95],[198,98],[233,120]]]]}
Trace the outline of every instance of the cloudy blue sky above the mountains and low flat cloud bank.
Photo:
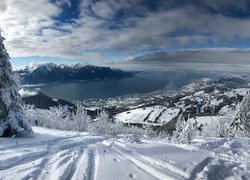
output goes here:
{"type": "Polygon", "coordinates": [[[14,66],[250,48],[249,0],[1,0],[0,14],[14,66]]]}

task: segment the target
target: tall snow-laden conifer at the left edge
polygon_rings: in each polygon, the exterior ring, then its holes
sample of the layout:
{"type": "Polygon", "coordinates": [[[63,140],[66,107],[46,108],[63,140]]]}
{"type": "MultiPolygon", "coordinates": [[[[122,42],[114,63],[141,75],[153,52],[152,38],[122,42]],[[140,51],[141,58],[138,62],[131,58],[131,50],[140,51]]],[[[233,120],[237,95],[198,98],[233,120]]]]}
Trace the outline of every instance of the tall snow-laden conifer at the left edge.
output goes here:
{"type": "Polygon", "coordinates": [[[9,54],[3,44],[0,29],[0,136],[33,133],[24,117],[15,75],[9,62],[9,54]]]}

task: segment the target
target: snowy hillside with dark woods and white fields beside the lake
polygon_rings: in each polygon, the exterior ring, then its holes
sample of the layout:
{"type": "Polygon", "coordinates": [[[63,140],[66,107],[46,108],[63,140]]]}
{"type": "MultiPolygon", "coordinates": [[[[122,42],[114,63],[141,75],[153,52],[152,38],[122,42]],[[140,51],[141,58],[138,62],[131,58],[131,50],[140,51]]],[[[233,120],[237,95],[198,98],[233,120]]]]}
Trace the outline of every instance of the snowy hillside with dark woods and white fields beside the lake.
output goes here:
{"type": "Polygon", "coordinates": [[[211,119],[219,120],[234,113],[249,89],[249,81],[244,78],[201,79],[178,91],[90,99],[83,101],[83,105],[93,116],[103,107],[115,121],[140,127],[173,127],[181,113],[185,119],[189,117],[205,125],[211,119]]]}

